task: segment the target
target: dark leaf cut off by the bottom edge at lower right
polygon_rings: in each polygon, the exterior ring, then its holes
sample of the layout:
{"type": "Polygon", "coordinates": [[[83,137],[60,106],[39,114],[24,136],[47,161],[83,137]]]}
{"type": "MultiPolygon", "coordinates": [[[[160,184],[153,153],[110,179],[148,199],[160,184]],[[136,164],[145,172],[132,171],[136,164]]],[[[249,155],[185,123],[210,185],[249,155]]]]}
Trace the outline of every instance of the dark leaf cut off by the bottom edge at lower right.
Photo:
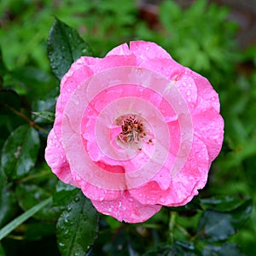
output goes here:
{"type": "Polygon", "coordinates": [[[203,256],[245,256],[234,243],[224,243],[221,246],[211,244],[204,245],[203,256]]]}

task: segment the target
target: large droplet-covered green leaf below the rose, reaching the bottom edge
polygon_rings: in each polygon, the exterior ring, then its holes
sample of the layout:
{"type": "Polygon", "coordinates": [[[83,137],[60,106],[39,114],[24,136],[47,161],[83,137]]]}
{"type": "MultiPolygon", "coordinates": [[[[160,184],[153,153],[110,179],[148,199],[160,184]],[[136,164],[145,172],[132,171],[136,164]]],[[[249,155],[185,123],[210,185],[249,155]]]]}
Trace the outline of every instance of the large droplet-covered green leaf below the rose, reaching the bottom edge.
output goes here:
{"type": "Polygon", "coordinates": [[[56,228],[62,256],[84,255],[89,250],[97,236],[98,214],[81,191],[62,212],[56,228]]]}

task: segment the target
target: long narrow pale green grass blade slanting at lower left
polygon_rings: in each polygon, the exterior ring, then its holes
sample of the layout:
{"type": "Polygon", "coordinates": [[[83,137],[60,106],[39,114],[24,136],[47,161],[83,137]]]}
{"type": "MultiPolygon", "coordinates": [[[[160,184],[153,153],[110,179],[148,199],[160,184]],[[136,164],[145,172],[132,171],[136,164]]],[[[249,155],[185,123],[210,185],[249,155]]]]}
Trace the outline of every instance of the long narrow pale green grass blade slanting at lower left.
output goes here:
{"type": "Polygon", "coordinates": [[[3,229],[0,230],[0,240],[3,237],[8,236],[13,230],[15,230],[20,224],[24,223],[28,218],[31,218],[36,212],[44,208],[51,201],[51,197],[46,199],[45,201],[40,202],[38,205],[32,207],[28,211],[21,214],[18,218],[15,218],[9,224],[5,225],[3,229]]]}

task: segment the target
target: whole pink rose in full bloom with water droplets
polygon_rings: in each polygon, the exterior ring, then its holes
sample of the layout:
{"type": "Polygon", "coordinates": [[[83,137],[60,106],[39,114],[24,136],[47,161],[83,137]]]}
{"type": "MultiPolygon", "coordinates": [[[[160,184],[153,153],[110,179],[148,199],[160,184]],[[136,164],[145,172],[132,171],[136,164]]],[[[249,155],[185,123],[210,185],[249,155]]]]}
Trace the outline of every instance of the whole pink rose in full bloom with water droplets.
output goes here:
{"type": "Polygon", "coordinates": [[[138,223],[198,194],[223,136],[208,80],[157,44],[136,41],[73,63],[45,159],[99,212],[138,223]]]}

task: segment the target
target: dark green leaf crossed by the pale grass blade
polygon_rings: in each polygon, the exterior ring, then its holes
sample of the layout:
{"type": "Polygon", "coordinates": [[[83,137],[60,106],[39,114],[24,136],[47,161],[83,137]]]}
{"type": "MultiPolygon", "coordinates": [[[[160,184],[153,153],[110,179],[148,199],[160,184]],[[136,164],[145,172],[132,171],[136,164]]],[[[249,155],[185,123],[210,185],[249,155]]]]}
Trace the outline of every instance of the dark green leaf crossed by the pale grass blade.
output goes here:
{"type": "MultiPolygon", "coordinates": [[[[23,184],[20,183],[16,188],[16,196],[19,201],[20,207],[25,211],[30,209],[32,206],[38,204],[40,201],[48,198],[51,194],[43,188],[38,187],[34,184],[23,184]]],[[[35,214],[34,218],[44,220],[55,220],[61,214],[59,207],[51,207],[50,204],[44,207],[42,210],[35,214]]]]}

